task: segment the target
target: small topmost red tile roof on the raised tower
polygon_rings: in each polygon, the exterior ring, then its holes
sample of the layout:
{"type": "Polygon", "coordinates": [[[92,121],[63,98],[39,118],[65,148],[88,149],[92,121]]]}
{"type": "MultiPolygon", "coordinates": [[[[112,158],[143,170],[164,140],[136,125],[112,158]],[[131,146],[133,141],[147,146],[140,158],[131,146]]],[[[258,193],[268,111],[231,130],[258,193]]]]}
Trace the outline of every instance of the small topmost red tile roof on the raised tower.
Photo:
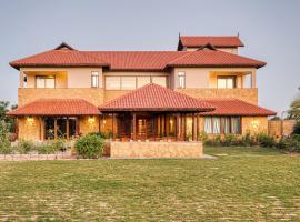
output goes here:
{"type": "Polygon", "coordinates": [[[210,37],[210,36],[182,36],[179,39],[178,49],[181,50],[182,47],[203,47],[207,43],[211,43],[217,48],[230,48],[230,47],[243,47],[242,41],[237,36],[227,37],[210,37]]]}

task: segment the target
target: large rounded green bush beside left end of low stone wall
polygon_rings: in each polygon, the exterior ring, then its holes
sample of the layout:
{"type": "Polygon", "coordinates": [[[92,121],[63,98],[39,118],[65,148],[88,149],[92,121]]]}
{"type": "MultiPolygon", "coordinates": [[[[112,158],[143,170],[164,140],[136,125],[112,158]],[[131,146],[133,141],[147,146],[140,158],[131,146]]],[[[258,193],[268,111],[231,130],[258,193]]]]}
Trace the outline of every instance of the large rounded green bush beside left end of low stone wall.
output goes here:
{"type": "Polygon", "coordinates": [[[102,155],[104,139],[96,134],[81,137],[74,144],[77,157],[97,159],[102,155]]]}

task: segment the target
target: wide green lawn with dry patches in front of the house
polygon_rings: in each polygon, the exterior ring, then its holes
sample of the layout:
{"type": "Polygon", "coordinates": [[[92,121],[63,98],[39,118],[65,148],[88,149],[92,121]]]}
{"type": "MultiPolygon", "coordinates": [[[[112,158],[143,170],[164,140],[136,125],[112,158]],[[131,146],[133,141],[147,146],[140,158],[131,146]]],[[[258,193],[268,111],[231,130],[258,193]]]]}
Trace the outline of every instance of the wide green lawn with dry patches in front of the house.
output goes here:
{"type": "Polygon", "coordinates": [[[300,155],[0,162],[0,221],[300,221],[300,155]]]}

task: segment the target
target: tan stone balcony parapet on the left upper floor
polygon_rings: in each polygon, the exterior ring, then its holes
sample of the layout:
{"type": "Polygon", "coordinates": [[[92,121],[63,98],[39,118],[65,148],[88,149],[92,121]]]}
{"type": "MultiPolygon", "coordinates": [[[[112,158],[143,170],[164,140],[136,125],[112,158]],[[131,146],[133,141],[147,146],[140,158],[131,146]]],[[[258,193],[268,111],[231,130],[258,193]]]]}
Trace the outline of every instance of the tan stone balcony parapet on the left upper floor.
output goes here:
{"type": "Polygon", "coordinates": [[[103,103],[103,89],[19,89],[18,105],[38,99],[83,99],[98,107],[103,103]]]}

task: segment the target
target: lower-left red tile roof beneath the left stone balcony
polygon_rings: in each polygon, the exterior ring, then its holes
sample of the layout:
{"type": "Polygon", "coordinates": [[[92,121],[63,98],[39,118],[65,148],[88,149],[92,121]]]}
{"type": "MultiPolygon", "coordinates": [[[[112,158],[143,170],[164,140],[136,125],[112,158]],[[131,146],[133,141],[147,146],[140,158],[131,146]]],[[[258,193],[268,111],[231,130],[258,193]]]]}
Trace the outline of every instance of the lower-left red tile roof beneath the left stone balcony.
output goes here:
{"type": "Polygon", "coordinates": [[[94,115],[99,110],[81,99],[43,99],[8,112],[8,115],[94,115]]]}

